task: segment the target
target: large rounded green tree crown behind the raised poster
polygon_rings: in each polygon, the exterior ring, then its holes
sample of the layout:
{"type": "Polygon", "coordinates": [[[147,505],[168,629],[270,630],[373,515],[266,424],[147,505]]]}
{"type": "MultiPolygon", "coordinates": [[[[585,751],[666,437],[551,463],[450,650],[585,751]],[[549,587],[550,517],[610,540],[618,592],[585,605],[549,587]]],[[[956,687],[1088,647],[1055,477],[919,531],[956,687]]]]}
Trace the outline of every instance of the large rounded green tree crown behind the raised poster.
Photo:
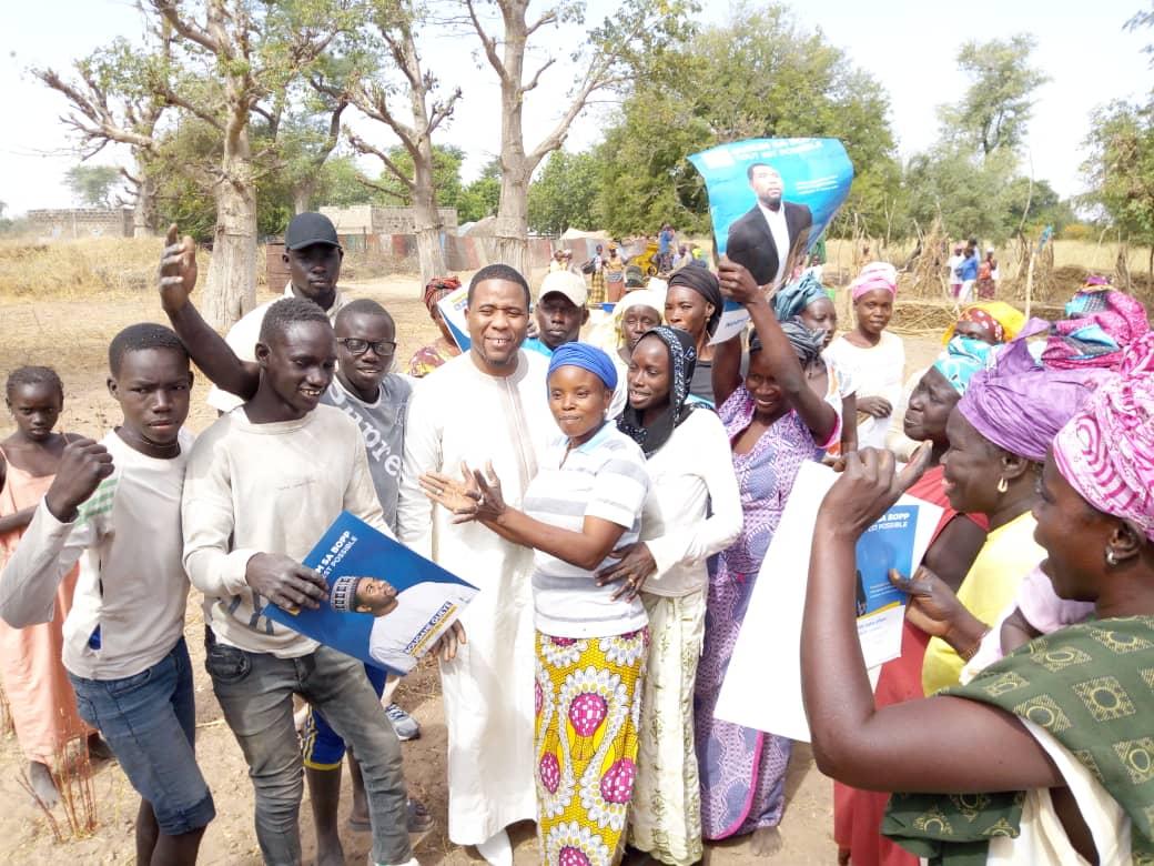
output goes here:
{"type": "MultiPolygon", "coordinates": [[[[787,7],[739,5],[729,23],[666,52],[638,81],[599,148],[598,222],[615,233],[669,221],[704,231],[704,186],[689,154],[756,136],[833,136],[859,177],[893,171],[882,87],[787,7]]],[[[861,199],[859,207],[876,206],[861,199]]]]}

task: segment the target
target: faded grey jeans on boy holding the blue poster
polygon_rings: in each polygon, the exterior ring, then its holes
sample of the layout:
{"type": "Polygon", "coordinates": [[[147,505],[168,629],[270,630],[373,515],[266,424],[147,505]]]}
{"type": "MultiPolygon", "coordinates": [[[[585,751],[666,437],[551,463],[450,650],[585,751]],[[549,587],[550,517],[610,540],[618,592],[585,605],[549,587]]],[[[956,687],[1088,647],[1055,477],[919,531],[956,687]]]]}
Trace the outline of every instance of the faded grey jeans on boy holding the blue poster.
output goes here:
{"type": "Polygon", "coordinates": [[[304,769],[293,694],[324,712],[357,754],[373,824],[374,863],[412,858],[400,742],[365,666],[329,647],[299,658],[248,652],[207,637],[204,666],[224,717],[240,744],[256,793],[256,839],[264,863],[297,866],[304,769]]]}

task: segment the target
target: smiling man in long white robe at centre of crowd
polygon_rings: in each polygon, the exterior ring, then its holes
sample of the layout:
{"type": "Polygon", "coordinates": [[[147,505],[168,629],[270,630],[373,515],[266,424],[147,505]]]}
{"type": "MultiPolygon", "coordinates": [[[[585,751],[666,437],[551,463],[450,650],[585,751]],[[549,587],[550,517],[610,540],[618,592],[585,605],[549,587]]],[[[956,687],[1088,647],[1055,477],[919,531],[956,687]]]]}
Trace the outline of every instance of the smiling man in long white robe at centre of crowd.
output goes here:
{"type": "Polygon", "coordinates": [[[442,662],[449,729],[449,838],[511,864],[504,828],[537,818],[533,768],[533,551],[478,523],[455,525],[421,492],[422,472],[456,475],[487,462],[505,501],[520,507],[548,436],[556,435],[546,390],[548,360],[520,349],[529,285],[504,264],[470,285],[470,351],[420,380],[405,433],[397,512],[400,540],[480,592],[460,622],[467,642],[442,662]]]}

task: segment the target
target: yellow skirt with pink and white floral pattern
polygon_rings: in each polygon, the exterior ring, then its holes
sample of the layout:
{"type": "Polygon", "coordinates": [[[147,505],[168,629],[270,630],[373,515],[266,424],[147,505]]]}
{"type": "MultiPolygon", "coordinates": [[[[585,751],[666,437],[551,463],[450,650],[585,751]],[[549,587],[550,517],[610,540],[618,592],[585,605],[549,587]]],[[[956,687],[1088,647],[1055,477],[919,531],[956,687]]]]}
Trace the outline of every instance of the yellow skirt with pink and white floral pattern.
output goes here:
{"type": "Polygon", "coordinates": [[[548,866],[609,866],[621,856],[649,643],[647,628],[537,633],[537,828],[548,866]]]}

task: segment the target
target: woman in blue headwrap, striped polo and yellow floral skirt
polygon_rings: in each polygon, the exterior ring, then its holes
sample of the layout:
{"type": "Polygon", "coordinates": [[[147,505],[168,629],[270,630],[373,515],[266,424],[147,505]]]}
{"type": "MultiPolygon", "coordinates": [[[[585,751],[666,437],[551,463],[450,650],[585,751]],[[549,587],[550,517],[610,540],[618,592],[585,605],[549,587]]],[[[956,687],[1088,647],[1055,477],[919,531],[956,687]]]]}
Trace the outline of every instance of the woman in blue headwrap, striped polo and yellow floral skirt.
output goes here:
{"type": "Polygon", "coordinates": [[[462,466],[464,481],[421,478],[458,521],[534,550],[534,755],[546,864],[616,863],[637,776],[649,618],[636,593],[597,581],[615,565],[614,550],[637,542],[650,487],[642,449],[606,417],[616,385],[602,350],[567,343],[553,352],[547,396],[561,435],[520,509],[505,505],[492,466],[462,466]]]}

